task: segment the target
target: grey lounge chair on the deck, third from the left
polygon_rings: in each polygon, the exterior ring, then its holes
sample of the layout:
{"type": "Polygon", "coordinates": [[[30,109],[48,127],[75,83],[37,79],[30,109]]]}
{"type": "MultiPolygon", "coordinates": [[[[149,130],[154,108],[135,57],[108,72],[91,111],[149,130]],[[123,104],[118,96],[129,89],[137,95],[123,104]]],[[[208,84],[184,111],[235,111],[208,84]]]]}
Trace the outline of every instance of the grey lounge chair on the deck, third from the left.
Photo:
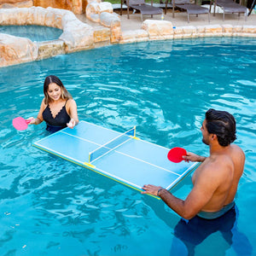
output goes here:
{"type": "Polygon", "coordinates": [[[223,9],[223,20],[225,20],[225,14],[244,14],[245,20],[247,20],[247,8],[245,6],[233,2],[233,0],[211,0],[210,10],[212,7],[212,2],[214,2],[213,15],[215,15],[216,5],[218,5],[221,9],[223,9]]]}

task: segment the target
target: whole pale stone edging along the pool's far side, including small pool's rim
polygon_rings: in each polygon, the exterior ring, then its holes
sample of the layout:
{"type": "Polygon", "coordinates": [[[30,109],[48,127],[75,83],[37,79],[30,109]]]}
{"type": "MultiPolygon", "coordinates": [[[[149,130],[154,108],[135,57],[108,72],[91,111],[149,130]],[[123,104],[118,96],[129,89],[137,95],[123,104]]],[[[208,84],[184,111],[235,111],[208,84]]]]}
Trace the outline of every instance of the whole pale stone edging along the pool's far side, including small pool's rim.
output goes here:
{"type": "MultiPolygon", "coordinates": [[[[90,14],[91,15],[91,14],[90,14]]],[[[172,26],[167,20],[144,20],[141,29],[121,30],[119,15],[111,10],[99,13],[98,26],[90,26],[79,20],[71,11],[53,8],[0,9],[0,25],[52,26],[63,30],[60,38],[44,42],[32,42],[0,33],[0,67],[29,61],[39,61],[55,55],[94,49],[110,44],[133,44],[153,40],[174,40],[208,37],[256,38],[256,26],[203,25],[172,26]]],[[[96,24],[96,22],[94,22],[96,24]]],[[[96,24],[97,25],[97,24],[96,24]]]]}

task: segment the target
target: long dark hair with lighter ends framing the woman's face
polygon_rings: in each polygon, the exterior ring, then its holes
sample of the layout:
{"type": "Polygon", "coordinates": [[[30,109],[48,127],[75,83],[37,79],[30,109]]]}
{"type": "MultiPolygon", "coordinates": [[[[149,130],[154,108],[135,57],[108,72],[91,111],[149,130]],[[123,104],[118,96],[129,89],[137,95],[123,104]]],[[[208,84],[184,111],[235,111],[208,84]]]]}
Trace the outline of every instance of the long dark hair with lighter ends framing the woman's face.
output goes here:
{"type": "Polygon", "coordinates": [[[55,83],[61,87],[61,99],[68,100],[68,99],[73,98],[71,96],[71,94],[67,91],[65,86],[62,84],[61,79],[59,79],[58,77],[56,77],[54,75],[50,75],[44,80],[44,103],[46,105],[48,105],[49,102],[51,102],[49,95],[48,95],[49,84],[51,84],[51,83],[55,83]]]}

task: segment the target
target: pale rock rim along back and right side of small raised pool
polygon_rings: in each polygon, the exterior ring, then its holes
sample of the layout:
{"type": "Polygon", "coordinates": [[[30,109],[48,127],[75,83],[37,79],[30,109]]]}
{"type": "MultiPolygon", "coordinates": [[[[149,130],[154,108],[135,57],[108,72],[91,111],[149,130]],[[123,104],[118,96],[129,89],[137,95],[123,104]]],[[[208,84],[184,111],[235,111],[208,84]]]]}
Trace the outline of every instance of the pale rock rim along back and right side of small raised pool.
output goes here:
{"type": "Polygon", "coordinates": [[[63,33],[59,39],[64,41],[67,53],[94,47],[93,28],[78,20],[69,10],[51,7],[0,9],[0,25],[40,25],[60,28],[63,33]]]}

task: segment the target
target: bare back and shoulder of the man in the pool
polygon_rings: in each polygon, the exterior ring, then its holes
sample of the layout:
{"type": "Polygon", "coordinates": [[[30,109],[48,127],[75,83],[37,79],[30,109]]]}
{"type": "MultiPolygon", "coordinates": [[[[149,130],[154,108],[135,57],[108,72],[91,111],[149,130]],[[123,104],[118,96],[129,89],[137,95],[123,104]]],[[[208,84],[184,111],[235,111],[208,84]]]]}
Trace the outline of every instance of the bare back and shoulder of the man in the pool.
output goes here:
{"type": "Polygon", "coordinates": [[[222,153],[212,154],[202,162],[195,170],[192,183],[195,186],[201,178],[205,182],[202,185],[211,188],[213,194],[201,211],[217,212],[234,201],[244,162],[245,155],[236,145],[230,145],[222,153]]]}

